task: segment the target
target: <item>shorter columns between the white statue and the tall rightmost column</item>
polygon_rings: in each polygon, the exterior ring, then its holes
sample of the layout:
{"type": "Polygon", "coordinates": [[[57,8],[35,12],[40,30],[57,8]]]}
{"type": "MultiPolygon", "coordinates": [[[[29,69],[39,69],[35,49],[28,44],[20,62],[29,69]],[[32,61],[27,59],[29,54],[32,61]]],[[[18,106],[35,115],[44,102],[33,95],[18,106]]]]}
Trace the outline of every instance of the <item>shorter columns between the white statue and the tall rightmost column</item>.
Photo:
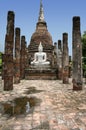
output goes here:
{"type": "Polygon", "coordinates": [[[63,44],[58,40],[57,48],[57,66],[58,79],[63,80],[63,83],[69,83],[69,51],[68,51],[68,34],[63,33],[63,44]]]}

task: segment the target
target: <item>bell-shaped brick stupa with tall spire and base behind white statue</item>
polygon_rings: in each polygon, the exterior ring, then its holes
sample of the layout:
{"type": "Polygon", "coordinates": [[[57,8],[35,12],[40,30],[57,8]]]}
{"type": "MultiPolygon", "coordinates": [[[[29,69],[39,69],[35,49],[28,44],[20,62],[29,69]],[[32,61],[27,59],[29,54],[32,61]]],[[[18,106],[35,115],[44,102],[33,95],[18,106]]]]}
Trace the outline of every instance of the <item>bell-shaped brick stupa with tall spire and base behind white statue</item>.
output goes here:
{"type": "MultiPolygon", "coordinates": [[[[44,57],[41,56],[41,62],[44,57]]],[[[31,36],[28,46],[28,65],[25,69],[26,79],[57,79],[57,60],[54,54],[54,45],[52,36],[48,32],[47,23],[44,18],[44,10],[42,0],[40,0],[40,10],[36,30],[31,36]],[[36,61],[36,54],[39,54],[39,47],[42,47],[42,55],[46,55],[45,63],[36,61]],[[35,61],[35,62],[34,62],[35,61]],[[33,64],[34,62],[34,64],[33,64]],[[47,63],[47,64],[46,64],[47,63]]]]}

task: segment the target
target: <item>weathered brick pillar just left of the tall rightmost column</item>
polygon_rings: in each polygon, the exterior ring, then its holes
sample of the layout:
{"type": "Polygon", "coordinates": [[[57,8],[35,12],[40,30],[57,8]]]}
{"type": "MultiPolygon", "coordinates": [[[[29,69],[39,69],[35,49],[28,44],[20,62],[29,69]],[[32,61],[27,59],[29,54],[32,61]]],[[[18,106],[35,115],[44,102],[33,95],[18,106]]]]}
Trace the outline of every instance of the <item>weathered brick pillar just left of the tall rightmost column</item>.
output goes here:
{"type": "Polygon", "coordinates": [[[63,69],[63,83],[69,83],[69,56],[68,56],[68,34],[63,33],[63,56],[62,56],[62,69],[63,69]]]}

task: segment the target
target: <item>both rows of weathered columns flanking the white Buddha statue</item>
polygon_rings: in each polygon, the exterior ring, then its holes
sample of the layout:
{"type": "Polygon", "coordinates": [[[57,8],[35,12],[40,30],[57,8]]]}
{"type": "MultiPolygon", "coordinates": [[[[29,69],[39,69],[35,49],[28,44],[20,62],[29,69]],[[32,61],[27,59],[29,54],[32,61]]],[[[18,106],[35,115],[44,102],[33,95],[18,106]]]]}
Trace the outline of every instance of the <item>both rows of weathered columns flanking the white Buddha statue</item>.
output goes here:
{"type": "MultiPolygon", "coordinates": [[[[15,15],[9,11],[7,16],[7,32],[5,36],[5,54],[4,61],[4,90],[13,89],[14,83],[19,83],[20,79],[25,77],[26,66],[26,40],[25,36],[20,36],[20,28],[14,27],[15,15]],[[15,30],[15,56],[14,48],[14,30],[15,30]],[[21,42],[21,44],[20,44],[21,42]]],[[[82,45],[80,32],[80,17],[73,18],[73,90],[82,89],[82,45]]],[[[59,79],[63,83],[69,82],[69,56],[68,56],[68,34],[63,33],[63,47],[61,40],[58,41],[58,72],[59,79]]]]}

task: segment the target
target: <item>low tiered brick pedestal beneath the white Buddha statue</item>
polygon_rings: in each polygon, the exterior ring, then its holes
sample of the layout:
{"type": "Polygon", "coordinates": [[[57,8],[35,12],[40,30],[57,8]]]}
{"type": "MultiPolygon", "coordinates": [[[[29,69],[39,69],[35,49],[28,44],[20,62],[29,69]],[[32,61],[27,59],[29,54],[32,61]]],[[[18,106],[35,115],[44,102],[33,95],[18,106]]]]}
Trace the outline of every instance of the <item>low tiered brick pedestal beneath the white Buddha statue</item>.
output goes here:
{"type": "Polygon", "coordinates": [[[29,80],[55,80],[57,79],[57,69],[50,66],[30,66],[25,69],[25,79],[29,80]]]}

